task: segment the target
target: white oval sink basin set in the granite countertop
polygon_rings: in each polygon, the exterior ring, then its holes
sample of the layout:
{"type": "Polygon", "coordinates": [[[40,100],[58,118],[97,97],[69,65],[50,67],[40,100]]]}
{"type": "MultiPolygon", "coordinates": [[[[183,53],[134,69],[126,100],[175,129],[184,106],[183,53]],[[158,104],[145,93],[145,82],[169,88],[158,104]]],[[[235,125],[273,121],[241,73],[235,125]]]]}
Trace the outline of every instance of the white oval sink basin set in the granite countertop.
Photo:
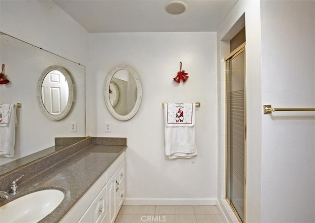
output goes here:
{"type": "Polygon", "coordinates": [[[0,207],[0,223],[38,222],[51,213],[62,201],[59,190],[29,193],[0,207]]]}

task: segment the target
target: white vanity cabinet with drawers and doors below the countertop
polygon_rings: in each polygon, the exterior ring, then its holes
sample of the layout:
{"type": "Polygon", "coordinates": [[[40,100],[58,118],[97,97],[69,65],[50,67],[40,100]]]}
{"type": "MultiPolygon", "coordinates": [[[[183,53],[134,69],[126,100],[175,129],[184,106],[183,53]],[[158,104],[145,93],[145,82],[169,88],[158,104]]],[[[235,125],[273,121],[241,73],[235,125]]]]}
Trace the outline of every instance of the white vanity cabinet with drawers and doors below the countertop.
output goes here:
{"type": "Polygon", "coordinates": [[[114,223],[125,199],[125,152],[64,215],[61,223],[114,223]]]}

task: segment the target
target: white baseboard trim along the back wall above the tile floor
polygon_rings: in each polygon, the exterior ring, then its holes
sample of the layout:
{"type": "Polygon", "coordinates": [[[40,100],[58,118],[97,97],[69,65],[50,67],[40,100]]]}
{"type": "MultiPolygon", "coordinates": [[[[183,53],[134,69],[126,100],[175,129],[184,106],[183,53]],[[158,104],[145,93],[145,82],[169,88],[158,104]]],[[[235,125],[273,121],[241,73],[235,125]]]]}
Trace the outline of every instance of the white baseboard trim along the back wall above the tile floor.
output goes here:
{"type": "Polygon", "coordinates": [[[126,197],[125,205],[217,205],[216,198],[136,198],[126,197]]]}

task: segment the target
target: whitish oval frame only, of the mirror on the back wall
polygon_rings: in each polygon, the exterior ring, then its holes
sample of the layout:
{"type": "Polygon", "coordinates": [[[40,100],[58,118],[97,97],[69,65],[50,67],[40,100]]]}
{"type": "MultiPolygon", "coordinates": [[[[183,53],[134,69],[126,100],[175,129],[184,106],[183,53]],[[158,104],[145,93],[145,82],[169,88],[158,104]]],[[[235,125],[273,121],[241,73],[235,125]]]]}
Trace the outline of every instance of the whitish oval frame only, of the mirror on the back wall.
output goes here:
{"type": "Polygon", "coordinates": [[[135,69],[133,69],[130,65],[127,64],[123,64],[123,65],[119,65],[114,67],[113,69],[111,69],[109,71],[109,73],[106,76],[105,79],[105,87],[104,87],[104,98],[105,98],[105,104],[106,107],[109,111],[109,113],[116,118],[117,120],[120,121],[126,121],[131,119],[139,110],[141,101],[142,101],[142,85],[141,85],[141,80],[140,77],[138,75],[138,73],[135,71],[135,69]],[[110,86],[110,82],[112,80],[112,78],[114,77],[115,73],[119,70],[125,69],[127,71],[129,71],[132,76],[134,77],[135,81],[136,81],[136,85],[137,85],[137,99],[136,99],[136,103],[134,104],[132,110],[126,114],[126,115],[120,115],[118,114],[114,107],[112,106],[111,102],[110,102],[110,98],[109,98],[109,86],[110,86]]]}

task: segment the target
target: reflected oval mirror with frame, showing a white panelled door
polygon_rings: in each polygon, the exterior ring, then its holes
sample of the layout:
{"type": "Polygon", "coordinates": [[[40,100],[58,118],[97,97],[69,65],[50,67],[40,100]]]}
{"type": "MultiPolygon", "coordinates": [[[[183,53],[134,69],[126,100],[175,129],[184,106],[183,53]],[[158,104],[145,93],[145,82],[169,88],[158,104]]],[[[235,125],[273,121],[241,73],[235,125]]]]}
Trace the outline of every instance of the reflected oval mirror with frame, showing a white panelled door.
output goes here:
{"type": "Polygon", "coordinates": [[[37,101],[43,114],[52,121],[63,119],[73,102],[73,84],[62,66],[49,66],[37,82],[37,101]]]}

